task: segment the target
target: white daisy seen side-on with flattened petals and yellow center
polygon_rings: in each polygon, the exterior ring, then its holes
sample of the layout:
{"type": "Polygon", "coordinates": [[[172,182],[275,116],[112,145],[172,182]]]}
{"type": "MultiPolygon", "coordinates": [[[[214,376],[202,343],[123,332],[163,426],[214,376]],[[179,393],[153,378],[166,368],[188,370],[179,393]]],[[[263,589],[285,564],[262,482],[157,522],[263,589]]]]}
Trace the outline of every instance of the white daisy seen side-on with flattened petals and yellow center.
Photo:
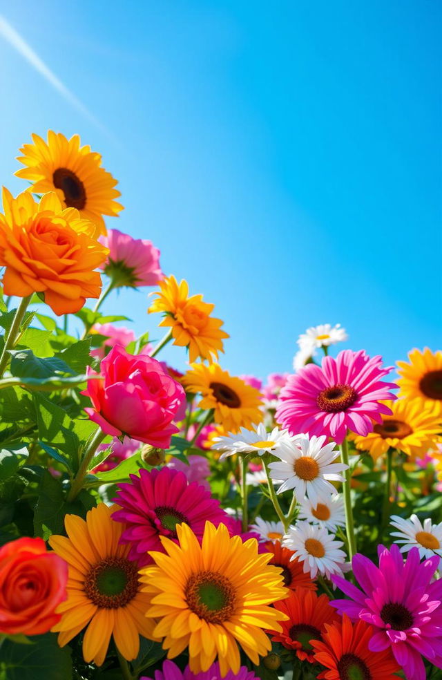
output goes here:
{"type": "Polygon", "coordinates": [[[227,437],[215,437],[211,448],[222,450],[220,461],[235,453],[262,455],[268,452],[277,455],[280,446],[289,444],[292,439],[287,430],[275,427],[271,432],[267,432],[265,426],[260,423],[252,425],[251,430],[242,427],[236,435],[229,432],[227,437]]]}

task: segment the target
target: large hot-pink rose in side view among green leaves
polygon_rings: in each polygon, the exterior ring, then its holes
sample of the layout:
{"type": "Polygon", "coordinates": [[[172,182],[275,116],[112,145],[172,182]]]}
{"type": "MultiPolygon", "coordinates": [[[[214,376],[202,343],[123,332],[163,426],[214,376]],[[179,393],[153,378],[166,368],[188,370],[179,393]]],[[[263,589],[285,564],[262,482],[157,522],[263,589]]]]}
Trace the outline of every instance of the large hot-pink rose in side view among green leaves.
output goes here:
{"type": "Polygon", "coordinates": [[[139,442],[169,448],[171,436],[178,431],[172,423],[185,399],[182,386],[161,366],[146,355],[131,355],[115,345],[103,359],[100,374],[89,369],[81,394],[90,398],[93,408],[86,408],[91,420],[106,435],[128,435],[139,442]]]}

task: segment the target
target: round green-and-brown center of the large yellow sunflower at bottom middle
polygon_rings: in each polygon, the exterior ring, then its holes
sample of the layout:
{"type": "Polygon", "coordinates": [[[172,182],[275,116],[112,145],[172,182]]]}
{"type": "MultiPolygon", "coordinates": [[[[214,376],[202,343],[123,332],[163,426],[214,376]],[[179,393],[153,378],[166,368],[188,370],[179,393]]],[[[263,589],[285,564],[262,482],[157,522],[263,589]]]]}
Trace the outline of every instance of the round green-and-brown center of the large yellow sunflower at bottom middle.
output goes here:
{"type": "Polygon", "coordinates": [[[235,590],[229,579],[217,572],[193,574],[184,595],[189,609],[209,623],[223,623],[235,610],[235,590]]]}

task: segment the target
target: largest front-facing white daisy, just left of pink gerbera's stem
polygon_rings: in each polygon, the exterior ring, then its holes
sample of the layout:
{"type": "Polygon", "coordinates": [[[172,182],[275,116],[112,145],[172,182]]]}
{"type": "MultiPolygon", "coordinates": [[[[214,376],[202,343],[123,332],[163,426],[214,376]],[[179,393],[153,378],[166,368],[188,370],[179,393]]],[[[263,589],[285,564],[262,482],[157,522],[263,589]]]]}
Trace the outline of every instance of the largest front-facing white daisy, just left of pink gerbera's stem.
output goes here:
{"type": "Polygon", "coordinates": [[[296,498],[302,500],[307,495],[315,505],[327,493],[338,493],[327,481],[343,482],[339,473],[347,469],[343,463],[332,463],[339,455],[336,444],[325,444],[325,436],[315,435],[296,435],[292,440],[291,445],[284,444],[273,452],[280,460],[269,465],[272,480],[285,480],[278,493],[294,489],[296,498]]]}

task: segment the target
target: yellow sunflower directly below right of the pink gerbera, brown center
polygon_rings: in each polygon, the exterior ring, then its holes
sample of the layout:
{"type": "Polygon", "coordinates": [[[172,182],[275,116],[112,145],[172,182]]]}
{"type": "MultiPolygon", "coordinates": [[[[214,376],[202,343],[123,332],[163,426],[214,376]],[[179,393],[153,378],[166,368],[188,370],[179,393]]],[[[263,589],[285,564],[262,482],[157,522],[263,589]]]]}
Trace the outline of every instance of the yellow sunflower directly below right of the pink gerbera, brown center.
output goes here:
{"type": "Polygon", "coordinates": [[[442,441],[441,416],[436,415],[434,408],[422,408],[420,399],[398,399],[383,404],[391,408],[392,415],[383,415],[382,424],[374,424],[373,432],[366,437],[349,435],[356,448],[368,451],[374,460],[390,447],[412,458],[420,457],[442,441]]]}

